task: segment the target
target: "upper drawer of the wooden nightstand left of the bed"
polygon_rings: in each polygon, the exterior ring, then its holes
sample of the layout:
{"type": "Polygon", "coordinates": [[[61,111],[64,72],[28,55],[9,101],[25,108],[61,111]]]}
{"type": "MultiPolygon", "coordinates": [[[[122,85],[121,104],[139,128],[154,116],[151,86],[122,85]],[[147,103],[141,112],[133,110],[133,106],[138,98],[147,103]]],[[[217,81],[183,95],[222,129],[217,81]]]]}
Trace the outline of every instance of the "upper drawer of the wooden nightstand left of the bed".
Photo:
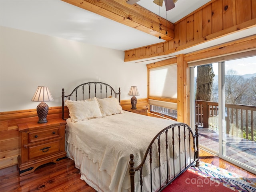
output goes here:
{"type": "Polygon", "coordinates": [[[41,140],[46,140],[50,138],[55,138],[60,136],[59,134],[59,126],[56,126],[52,129],[48,130],[40,130],[36,132],[30,132],[28,134],[28,142],[36,142],[36,141],[41,141],[41,140]]]}

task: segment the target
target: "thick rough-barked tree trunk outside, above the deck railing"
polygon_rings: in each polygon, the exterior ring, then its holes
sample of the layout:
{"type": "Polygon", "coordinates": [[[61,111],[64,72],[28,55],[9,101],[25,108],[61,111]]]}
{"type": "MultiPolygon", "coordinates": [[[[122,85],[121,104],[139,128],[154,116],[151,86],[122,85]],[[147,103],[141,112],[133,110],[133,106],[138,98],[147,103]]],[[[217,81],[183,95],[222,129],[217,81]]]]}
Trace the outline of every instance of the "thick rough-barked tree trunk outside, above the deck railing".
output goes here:
{"type": "Polygon", "coordinates": [[[196,100],[210,101],[214,76],[212,64],[197,66],[196,100]]]}

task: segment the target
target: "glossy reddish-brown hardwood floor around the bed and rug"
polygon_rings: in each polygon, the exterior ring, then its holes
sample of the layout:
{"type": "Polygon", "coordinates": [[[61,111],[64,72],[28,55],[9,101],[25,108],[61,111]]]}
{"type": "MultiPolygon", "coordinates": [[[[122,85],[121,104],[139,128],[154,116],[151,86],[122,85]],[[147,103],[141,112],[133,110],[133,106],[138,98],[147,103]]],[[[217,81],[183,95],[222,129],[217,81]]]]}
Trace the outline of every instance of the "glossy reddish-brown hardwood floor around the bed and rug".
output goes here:
{"type": "MultiPolygon", "coordinates": [[[[241,168],[238,168],[204,150],[200,150],[200,161],[213,164],[220,168],[236,172],[246,178],[256,178],[241,168]]],[[[1,192],[96,192],[83,180],[80,180],[79,170],[74,161],[66,158],[59,164],[46,164],[33,173],[19,176],[17,166],[0,170],[1,192]]]]}

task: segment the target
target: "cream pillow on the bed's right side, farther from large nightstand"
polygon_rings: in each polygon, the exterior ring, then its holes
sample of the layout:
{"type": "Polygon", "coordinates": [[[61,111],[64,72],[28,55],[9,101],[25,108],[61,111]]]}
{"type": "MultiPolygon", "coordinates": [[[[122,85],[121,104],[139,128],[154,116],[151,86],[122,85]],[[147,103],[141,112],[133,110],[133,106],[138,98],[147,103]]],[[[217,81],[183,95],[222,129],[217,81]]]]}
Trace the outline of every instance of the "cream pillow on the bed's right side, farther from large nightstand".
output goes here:
{"type": "Polygon", "coordinates": [[[97,98],[100,108],[104,114],[102,116],[108,116],[118,113],[123,113],[123,109],[120,106],[117,98],[109,97],[104,99],[97,98]]]}

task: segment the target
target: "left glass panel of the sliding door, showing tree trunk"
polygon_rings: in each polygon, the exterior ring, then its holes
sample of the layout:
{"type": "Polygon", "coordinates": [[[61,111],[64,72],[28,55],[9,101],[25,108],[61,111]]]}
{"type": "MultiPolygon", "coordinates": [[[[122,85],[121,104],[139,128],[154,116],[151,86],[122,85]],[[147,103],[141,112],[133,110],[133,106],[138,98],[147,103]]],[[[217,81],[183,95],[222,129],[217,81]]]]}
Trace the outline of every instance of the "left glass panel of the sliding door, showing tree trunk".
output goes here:
{"type": "Polygon", "coordinates": [[[199,144],[218,154],[218,63],[194,68],[194,94],[199,144]]]}

